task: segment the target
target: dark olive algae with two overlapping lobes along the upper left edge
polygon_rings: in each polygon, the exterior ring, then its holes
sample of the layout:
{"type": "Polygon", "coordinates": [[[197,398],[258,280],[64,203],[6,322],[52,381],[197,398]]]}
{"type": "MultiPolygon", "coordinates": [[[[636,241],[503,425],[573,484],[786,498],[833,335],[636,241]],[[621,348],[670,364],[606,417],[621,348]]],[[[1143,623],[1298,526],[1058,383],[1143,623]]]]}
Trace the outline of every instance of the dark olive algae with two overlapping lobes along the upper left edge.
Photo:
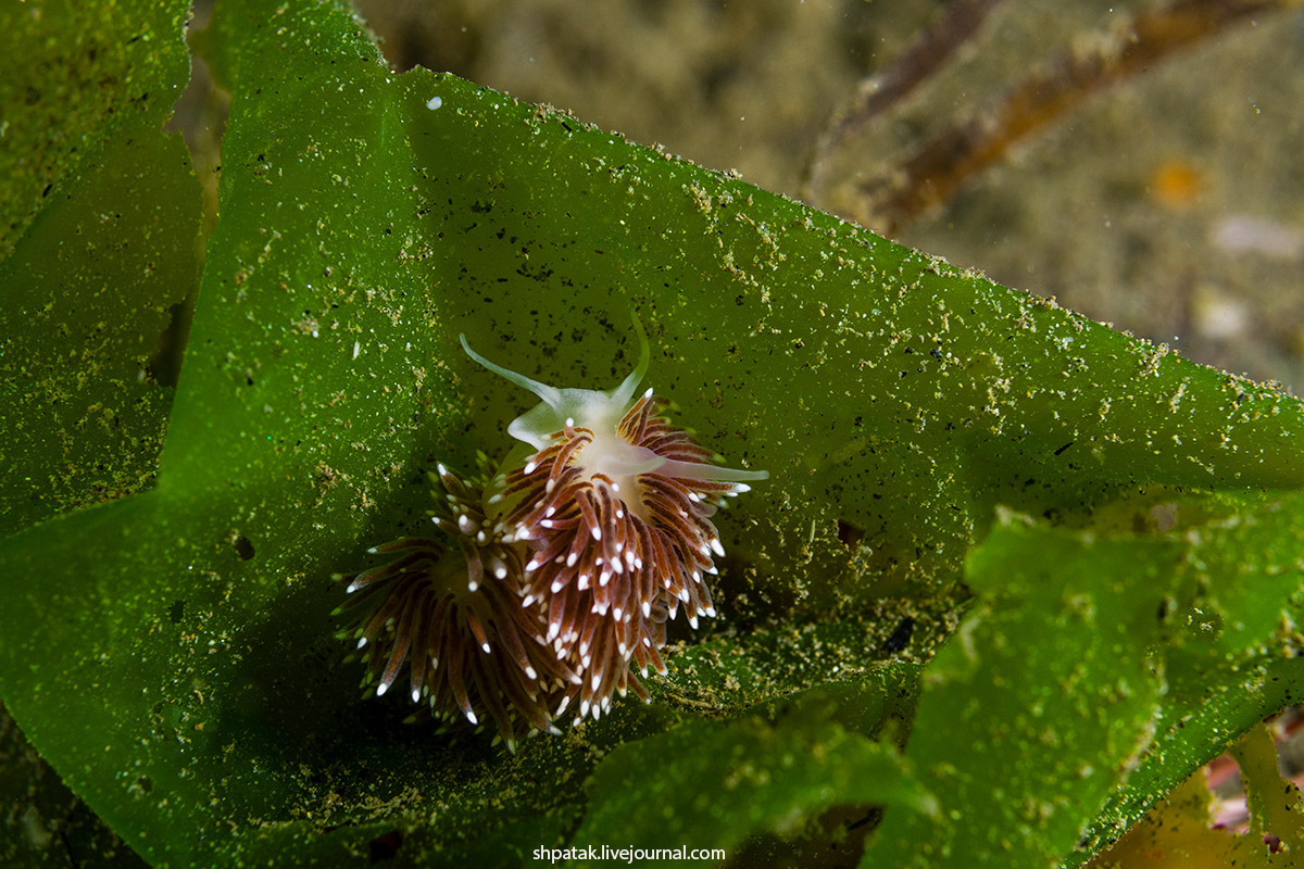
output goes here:
{"type": "Polygon", "coordinates": [[[149,360],[198,278],[200,189],[163,122],[188,3],[0,9],[0,537],[153,479],[149,360]]]}

